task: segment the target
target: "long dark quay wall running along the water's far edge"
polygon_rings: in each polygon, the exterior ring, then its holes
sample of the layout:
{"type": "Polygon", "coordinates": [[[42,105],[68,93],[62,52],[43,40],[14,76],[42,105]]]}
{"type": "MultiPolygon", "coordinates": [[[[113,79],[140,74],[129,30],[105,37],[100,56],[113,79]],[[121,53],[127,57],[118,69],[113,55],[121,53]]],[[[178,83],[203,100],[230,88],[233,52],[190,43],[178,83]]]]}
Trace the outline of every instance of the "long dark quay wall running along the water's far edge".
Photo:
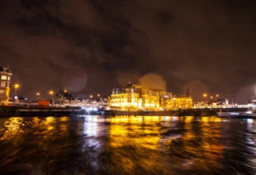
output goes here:
{"type": "Polygon", "coordinates": [[[0,117],[43,117],[43,116],[77,116],[77,115],[100,115],[100,116],[216,116],[217,112],[243,112],[247,108],[230,109],[186,109],[177,111],[85,111],[79,108],[17,108],[0,106],[0,117]]]}

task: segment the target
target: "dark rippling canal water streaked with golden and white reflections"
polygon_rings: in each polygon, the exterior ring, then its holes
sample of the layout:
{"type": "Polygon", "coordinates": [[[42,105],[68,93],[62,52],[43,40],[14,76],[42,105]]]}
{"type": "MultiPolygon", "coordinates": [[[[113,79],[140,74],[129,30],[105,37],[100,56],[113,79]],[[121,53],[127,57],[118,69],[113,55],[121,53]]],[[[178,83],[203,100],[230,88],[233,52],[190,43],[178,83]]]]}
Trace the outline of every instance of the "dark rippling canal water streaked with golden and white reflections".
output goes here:
{"type": "Polygon", "coordinates": [[[256,120],[0,118],[0,174],[255,175],[256,120]]]}

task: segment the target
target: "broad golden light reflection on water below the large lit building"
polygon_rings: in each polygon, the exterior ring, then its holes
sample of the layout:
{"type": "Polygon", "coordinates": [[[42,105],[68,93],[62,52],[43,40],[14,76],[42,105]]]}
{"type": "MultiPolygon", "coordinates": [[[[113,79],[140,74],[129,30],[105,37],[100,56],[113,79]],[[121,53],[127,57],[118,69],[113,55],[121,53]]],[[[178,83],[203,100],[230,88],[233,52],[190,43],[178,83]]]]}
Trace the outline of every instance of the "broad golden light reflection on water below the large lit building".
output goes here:
{"type": "Polygon", "coordinates": [[[124,168],[125,172],[133,172],[138,166],[145,169],[154,168],[159,156],[158,146],[161,135],[160,126],[151,125],[161,118],[158,116],[111,118],[110,146],[112,149],[115,148],[114,158],[120,159],[115,161],[115,166],[124,168]],[[131,156],[124,157],[122,152],[129,152],[131,156]]]}

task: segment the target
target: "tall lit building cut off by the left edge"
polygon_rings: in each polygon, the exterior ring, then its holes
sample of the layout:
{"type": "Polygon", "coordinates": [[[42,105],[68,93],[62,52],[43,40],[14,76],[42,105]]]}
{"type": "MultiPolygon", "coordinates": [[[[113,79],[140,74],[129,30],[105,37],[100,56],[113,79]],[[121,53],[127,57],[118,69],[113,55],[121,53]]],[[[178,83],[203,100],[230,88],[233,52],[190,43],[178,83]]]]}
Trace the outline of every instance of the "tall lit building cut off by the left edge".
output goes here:
{"type": "Polygon", "coordinates": [[[0,105],[8,104],[10,95],[11,69],[0,66],[0,105]]]}

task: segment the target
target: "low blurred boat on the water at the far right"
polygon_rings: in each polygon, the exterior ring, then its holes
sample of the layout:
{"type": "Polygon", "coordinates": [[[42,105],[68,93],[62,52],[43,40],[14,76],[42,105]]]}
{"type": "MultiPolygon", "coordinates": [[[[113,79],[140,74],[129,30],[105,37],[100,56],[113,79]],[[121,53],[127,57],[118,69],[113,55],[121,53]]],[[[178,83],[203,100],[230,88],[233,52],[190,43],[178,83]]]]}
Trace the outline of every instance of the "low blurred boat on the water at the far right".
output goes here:
{"type": "Polygon", "coordinates": [[[219,118],[252,118],[256,119],[256,110],[246,112],[217,112],[219,118]]]}

